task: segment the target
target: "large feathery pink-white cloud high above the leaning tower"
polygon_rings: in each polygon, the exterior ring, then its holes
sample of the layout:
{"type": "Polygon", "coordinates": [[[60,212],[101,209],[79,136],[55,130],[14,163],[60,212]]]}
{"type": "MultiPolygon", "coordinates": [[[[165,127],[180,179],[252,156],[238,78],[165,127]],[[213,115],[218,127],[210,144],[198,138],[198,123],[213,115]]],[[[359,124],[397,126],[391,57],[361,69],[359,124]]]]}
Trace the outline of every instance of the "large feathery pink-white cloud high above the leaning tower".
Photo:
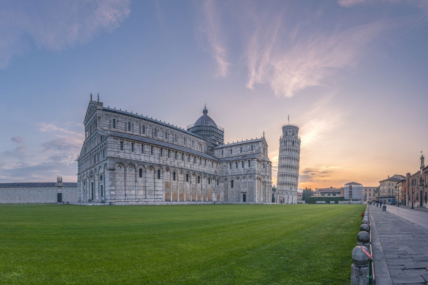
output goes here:
{"type": "Polygon", "coordinates": [[[385,21],[333,34],[285,27],[281,17],[269,18],[247,43],[247,88],[267,83],[276,96],[292,97],[309,86],[322,86],[333,71],[355,65],[366,46],[383,30],[385,21]],[[298,38],[296,38],[298,34],[298,38]]]}

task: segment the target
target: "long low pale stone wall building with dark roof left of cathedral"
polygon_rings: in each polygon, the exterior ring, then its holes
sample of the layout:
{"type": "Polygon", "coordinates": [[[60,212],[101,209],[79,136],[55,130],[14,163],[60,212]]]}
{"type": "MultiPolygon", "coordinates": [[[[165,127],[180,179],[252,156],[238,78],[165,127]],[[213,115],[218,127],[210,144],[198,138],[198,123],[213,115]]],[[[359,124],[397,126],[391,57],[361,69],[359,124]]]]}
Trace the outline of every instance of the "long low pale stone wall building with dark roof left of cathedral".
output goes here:
{"type": "Polygon", "coordinates": [[[0,183],[0,203],[76,203],[77,183],[62,182],[13,182],[0,183]]]}

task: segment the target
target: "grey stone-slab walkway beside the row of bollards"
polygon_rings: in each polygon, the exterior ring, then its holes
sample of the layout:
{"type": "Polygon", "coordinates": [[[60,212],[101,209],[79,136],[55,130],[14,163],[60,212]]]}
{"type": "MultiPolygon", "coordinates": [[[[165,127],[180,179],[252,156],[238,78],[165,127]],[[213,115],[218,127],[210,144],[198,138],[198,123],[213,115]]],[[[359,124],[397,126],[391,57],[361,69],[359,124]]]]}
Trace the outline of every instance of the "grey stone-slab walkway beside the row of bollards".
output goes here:
{"type": "Polygon", "coordinates": [[[428,230],[370,208],[376,285],[428,284],[428,230]]]}

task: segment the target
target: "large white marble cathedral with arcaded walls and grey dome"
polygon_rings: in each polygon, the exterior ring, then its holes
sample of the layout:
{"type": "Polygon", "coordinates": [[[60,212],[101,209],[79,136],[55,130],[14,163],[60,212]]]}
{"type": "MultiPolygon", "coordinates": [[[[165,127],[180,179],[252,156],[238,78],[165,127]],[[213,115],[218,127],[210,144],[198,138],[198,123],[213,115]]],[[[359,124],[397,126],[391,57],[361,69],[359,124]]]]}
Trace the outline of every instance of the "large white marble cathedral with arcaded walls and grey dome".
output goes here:
{"type": "MultiPolygon", "coordinates": [[[[202,116],[186,129],[89,101],[77,157],[78,202],[110,205],[271,202],[265,137],[224,144],[202,116]]],[[[293,189],[294,190],[294,189],[293,189]]]]}

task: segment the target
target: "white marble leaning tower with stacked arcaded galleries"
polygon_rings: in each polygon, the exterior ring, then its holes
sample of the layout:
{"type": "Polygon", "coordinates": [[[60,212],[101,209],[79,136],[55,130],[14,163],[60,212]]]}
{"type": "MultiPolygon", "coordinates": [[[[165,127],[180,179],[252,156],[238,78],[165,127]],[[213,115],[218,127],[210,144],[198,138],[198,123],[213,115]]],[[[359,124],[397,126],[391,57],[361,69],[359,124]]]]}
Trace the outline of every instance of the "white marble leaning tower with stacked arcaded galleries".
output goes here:
{"type": "Polygon", "coordinates": [[[299,127],[293,124],[285,124],[282,126],[282,135],[279,137],[278,176],[276,181],[275,203],[297,203],[299,163],[299,127]]]}

